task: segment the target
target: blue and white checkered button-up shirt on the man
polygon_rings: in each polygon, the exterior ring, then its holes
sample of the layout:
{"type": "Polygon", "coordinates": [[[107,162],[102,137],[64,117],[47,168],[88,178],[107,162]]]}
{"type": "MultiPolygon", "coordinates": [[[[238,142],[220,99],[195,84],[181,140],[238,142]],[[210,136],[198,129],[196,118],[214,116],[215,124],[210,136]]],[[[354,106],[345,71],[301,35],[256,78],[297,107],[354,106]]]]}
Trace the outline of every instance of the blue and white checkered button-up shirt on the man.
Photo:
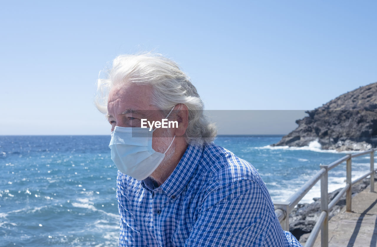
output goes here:
{"type": "Polygon", "coordinates": [[[215,144],[189,145],[159,187],[118,171],[119,246],[302,247],[282,230],[247,161],[215,144]]]}

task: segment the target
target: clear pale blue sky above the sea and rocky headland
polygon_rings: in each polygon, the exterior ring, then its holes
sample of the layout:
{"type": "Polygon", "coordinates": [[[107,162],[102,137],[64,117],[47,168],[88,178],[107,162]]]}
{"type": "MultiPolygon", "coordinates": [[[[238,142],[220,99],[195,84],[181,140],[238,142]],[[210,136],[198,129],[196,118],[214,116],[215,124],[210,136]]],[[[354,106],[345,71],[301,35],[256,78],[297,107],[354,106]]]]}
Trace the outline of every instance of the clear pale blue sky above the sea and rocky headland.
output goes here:
{"type": "Polygon", "coordinates": [[[0,135],[109,134],[93,105],[98,72],[150,50],[181,65],[206,109],[314,109],[377,81],[376,10],[376,1],[3,1],[0,135]]]}

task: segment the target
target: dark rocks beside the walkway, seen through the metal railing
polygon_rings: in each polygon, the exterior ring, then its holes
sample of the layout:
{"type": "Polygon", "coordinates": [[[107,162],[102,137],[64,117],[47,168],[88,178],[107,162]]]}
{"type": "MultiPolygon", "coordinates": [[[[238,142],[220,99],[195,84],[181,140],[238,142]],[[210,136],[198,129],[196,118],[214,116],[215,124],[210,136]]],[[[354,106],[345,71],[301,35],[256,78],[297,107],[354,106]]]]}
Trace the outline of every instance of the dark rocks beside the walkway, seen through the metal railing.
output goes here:
{"type": "MultiPolygon", "coordinates": [[[[374,176],[374,180],[377,181],[377,175],[374,176]]],[[[370,179],[366,178],[362,182],[357,183],[352,186],[352,197],[357,193],[365,189],[370,183],[370,179]]],[[[340,189],[333,191],[328,194],[328,202],[336,197],[340,192],[340,189]]],[[[300,239],[300,242],[306,242],[308,238],[308,233],[313,230],[314,225],[316,224],[318,217],[320,215],[321,201],[320,198],[313,198],[313,203],[298,204],[294,208],[289,217],[289,230],[297,238],[300,239]]],[[[329,212],[329,219],[334,215],[340,212],[340,210],[346,205],[346,195],[344,194],[339,202],[331,209],[329,212]]]]}

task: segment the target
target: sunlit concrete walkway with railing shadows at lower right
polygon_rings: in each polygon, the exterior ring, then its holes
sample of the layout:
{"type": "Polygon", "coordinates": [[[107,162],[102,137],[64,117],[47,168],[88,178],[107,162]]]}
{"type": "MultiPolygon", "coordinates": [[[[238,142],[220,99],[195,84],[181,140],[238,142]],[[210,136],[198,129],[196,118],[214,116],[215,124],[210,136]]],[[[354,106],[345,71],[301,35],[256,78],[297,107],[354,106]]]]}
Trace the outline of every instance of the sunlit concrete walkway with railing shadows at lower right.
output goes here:
{"type": "MultiPolygon", "coordinates": [[[[374,184],[377,191],[377,182],[374,184]]],[[[368,186],[352,198],[352,212],[344,207],[329,220],[329,247],[376,247],[377,193],[368,186]]],[[[314,246],[321,246],[321,233],[314,246]]]]}

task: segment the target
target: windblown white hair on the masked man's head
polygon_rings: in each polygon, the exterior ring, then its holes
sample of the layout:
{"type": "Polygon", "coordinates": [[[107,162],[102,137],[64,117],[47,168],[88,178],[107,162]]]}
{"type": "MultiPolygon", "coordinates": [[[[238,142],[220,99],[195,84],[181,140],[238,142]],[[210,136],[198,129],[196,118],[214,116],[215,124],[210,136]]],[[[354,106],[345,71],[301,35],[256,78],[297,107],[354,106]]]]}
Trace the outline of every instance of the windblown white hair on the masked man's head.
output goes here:
{"type": "Polygon", "coordinates": [[[113,86],[123,83],[152,86],[152,104],[164,114],[178,104],[189,110],[184,134],[188,144],[209,144],[216,128],[203,114],[204,104],[190,78],[170,59],[161,54],[120,55],[113,61],[105,79],[98,79],[95,106],[107,114],[107,97],[113,86]]]}

